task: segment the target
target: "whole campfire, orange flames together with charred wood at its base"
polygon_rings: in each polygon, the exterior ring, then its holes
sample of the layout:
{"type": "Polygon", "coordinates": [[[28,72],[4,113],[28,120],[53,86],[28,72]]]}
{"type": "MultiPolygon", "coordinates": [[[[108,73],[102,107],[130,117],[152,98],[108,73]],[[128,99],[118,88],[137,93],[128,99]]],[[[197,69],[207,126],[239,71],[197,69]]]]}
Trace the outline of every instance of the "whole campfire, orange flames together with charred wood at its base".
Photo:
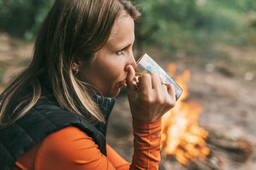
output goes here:
{"type": "Polygon", "coordinates": [[[164,161],[175,158],[188,169],[222,169],[230,164],[243,164],[253,152],[253,145],[244,138],[229,138],[220,131],[198,125],[202,113],[200,101],[189,101],[190,71],[175,76],[175,64],[168,73],[183,90],[175,107],[163,117],[162,148],[164,161]],[[231,163],[234,162],[234,163],[231,163]]]}

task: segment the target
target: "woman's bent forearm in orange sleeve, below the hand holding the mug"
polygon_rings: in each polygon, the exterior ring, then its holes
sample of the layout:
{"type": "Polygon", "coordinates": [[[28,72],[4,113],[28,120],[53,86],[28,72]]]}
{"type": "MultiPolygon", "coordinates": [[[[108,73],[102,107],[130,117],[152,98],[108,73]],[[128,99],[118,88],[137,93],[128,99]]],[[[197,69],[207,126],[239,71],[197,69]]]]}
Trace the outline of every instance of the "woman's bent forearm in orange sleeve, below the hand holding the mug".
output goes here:
{"type": "Polygon", "coordinates": [[[107,145],[108,159],[118,169],[157,169],[160,161],[161,119],[143,122],[133,119],[134,154],[132,164],[126,162],[107,145]]]}

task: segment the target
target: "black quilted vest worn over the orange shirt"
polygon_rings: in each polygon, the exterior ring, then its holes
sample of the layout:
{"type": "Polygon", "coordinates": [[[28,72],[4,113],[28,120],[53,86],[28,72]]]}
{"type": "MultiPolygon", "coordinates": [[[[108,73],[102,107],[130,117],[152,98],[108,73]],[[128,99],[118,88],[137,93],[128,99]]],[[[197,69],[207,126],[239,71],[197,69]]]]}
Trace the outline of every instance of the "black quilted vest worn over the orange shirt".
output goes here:
{"type": "MultiPolygon", "coordinates": [[[[115,99],[97,97],[106,122],[115,99]]],[[[0,169],[12,169],[15,161],[49,134],[73,125],[90,136],[106,155],[106,125],[93,126],[84,118],[58,107],[54,101],[40,99],[31,110],[10,127],[0,129],[0,169]]]]}

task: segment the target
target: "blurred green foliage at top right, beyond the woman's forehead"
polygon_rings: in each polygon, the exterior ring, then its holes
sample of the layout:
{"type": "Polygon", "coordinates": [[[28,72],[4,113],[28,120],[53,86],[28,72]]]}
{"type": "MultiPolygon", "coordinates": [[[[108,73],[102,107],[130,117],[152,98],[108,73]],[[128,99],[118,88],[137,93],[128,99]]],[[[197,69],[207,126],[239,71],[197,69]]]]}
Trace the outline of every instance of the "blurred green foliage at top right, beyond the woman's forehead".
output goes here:
{"type": "MultiPolygon", "coordinates": [[[[198,52],[214,42],[234,45],[248,41],[253,23],[246,18],[256,11],[255,0],[136,0],[143,12],[143,29],[158,25],[159,30],[147,44],[167,50],[185,49],[198,52]]],[[[256,24],[255,24],[256,25],[256,24]]],[[[251,39],[252,40],[252,39],[251,39]]]]}

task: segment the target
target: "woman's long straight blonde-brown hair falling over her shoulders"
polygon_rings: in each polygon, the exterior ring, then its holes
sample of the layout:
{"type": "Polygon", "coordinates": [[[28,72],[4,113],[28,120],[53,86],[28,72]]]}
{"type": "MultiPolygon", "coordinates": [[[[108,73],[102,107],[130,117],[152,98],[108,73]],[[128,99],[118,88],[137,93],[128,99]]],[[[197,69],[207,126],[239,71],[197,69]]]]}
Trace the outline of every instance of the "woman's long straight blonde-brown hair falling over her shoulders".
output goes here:
{"type": "Polygon", "coordinates": [[[56,0],[38,32],[31,64],[0,96],[0,127],[23,117],[42,97],[89,122],[105,122],[92,99],[97,90],[73,73],[72,63],[82,57],[90,66],[122,11],[140,16],[129,0],[56,0]]]}

